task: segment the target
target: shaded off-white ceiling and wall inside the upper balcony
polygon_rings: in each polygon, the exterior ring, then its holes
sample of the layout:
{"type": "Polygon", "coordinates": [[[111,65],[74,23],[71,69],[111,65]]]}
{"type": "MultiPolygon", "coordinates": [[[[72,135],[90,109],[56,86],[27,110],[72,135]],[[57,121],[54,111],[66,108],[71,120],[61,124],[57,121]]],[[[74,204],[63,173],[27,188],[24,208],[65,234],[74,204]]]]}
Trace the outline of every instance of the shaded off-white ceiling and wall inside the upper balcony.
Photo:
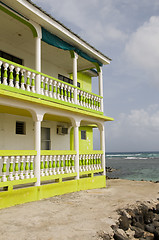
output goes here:
{"type": "MultiPolygon", "coordinates": [[[[35,55],[35,39],[31,30],[3,11],[0,11],[0,50],[24,59],[22,52],[35,55]]],[[[69,51],[61,50],[42,42],[42,60],[72,73],[73,61],[69,51]]],[[[34,69],[34,63],[24,65],[34,69]]],[[[94,68],[95,65],[79,56],[78,71],[94,68]]],[[[47,72],[45,72],[47,74],[47,72]]]]}

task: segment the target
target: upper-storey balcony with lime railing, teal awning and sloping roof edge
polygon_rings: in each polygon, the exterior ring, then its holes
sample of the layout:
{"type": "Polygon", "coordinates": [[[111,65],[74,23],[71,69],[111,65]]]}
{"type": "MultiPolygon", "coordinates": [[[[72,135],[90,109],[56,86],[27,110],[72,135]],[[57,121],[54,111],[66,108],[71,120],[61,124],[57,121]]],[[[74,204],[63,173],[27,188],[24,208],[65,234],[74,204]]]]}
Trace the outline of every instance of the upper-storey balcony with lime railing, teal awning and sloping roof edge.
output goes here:
{"type": "Polygon", "coordinates": [[[110,59],[29,2],[4,3],[0,3],[0,93],[103,115],[102,65],[110,59]],[[98,82],[96,94],[93,81],[98,82]]]}

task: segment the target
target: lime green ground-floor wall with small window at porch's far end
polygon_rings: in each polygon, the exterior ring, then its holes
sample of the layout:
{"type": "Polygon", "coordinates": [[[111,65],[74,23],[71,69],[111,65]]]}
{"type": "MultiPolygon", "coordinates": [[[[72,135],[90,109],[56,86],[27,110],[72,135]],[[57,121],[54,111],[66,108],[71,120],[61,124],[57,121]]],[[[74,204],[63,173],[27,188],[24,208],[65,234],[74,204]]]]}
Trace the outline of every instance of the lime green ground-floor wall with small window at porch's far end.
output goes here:
{"type": "MultiPolygon", "coordinates": [[[[70,150],[74,150],[74,129],[71,129],[70,132],[70,150]]],[[[79,151],[92,151],[93,150],[93,128],[79,127],[79,151]],[[86,131],[86,140],[81,139],[81,130],[86,131]]]]}

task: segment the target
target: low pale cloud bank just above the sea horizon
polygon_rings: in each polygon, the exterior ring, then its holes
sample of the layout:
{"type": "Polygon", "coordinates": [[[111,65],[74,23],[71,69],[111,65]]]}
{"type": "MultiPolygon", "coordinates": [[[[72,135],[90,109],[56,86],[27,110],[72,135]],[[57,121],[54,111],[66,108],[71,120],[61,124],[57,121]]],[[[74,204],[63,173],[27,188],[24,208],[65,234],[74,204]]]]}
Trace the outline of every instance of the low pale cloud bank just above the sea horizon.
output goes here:
{"type": "Polygon", "coordinates": [[[159,105],[150,105],[146,109],[134,109],[128,114],[121,113],[118,119],[108,127],[108,139],[109,151],[157,150],[159,105]]]}

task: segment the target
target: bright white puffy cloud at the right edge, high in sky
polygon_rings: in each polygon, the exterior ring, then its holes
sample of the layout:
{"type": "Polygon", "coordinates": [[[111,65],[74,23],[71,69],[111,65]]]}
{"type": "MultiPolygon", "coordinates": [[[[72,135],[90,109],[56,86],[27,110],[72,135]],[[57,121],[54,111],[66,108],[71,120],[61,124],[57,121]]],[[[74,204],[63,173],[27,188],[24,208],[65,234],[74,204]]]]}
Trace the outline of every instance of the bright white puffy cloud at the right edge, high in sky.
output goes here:
{"type": "Polygon", "coordinates": [[[159,17],[152,16],[134,32],[125,47],[125,56],[130,64],[144,70],[158,83],[159,75],[159,17]]]}

